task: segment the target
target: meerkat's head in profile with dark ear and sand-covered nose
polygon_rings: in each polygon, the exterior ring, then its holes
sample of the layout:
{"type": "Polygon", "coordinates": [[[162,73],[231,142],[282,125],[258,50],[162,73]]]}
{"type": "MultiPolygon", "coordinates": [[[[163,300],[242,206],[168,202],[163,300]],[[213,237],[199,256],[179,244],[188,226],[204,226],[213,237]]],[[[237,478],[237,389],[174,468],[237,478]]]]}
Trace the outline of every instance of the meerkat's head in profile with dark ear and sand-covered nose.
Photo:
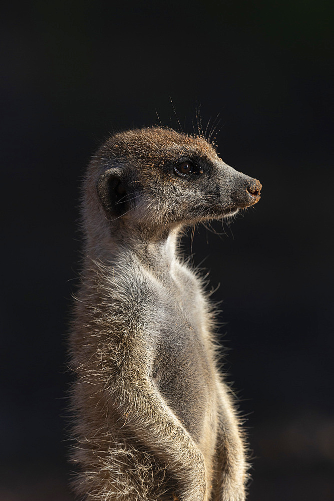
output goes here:
{"type": "Polygon", "coordinates": [[[260,199],[257,179],[226,165],[204,138],[171,129],[116,134],[95,165],[97,193],[110,220],[193,224],[233,215],[260,199]]]}

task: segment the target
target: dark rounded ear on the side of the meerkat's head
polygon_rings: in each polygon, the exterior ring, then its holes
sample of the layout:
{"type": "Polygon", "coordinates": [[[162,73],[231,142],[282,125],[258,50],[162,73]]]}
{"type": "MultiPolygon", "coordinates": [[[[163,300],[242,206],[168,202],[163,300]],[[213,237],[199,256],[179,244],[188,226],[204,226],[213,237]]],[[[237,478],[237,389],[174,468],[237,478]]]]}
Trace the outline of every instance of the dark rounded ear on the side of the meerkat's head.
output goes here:
{"type": "Polygon", "coordinates": [[[128,190],[121,169],[115,167],[103,172],[96,183],[96,190],[106,212],[121,216],[128,210],[128,190]]]}

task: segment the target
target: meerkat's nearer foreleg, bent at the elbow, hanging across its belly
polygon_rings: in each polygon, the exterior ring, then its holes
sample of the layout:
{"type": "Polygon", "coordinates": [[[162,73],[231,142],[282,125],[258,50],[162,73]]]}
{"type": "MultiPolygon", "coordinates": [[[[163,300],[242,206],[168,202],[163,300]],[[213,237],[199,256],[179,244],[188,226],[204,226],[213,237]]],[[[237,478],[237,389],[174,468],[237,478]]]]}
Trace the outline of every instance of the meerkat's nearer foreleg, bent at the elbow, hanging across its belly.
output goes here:
{"type": "MultiPolygon", "coordinates": [[[[142,354],[143,355],[143,354],[142,354]]],[[[147,357],[142,356],[141,360],[147,357]]],[[[143,364],[117,374],[112,400],[127,416],[126,426],[167,467],[176,479],[179,501],[208,501],[204,458],[194,440],[160,396],[143,364]]]]}

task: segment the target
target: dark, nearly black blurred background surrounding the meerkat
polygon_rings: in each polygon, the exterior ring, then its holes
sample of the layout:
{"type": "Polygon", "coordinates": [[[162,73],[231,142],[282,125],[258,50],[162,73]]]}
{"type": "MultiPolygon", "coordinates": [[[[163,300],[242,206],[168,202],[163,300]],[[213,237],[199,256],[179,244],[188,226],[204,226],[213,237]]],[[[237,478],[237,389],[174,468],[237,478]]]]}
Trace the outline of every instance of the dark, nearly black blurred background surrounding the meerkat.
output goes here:
{"type": "Polygon", "coordinates": [[[225,162],[263,184],[254,209],[221,235],[199,227],[192,249],[220,284],[249,501],[334,498],[332,13],[315,0],[7,3],[0,501],[73,499],[64,333],[90,155],[113,130],[192,132],[199,107],[204,128],[219,114],[225,162]]]}

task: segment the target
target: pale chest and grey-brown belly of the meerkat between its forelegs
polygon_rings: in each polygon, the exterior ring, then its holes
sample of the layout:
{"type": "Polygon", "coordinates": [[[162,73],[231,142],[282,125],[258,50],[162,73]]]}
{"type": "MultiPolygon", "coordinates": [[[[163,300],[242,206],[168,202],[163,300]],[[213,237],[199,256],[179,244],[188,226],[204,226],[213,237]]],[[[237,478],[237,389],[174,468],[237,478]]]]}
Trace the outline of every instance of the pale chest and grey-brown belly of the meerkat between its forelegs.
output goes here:
{"type": "Polygon", "coordinates": [[[216,437],[217,371],[207,299],[197,277],[179,262],[172,262],[160,280],[148,271],[145,275],[154,298],[148,315],[152,380],[210,463],[216,437]]]}

